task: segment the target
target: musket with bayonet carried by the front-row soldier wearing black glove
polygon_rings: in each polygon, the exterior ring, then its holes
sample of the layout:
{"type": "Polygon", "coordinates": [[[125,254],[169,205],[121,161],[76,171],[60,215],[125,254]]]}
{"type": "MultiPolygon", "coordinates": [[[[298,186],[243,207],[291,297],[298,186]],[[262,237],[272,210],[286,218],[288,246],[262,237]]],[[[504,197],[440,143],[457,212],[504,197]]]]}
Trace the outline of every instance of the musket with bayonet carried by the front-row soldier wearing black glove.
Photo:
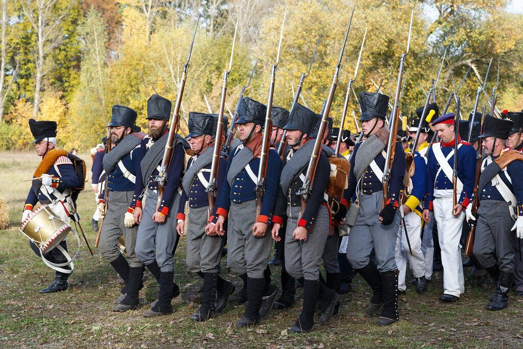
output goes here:
{"type": "Polygon", "coordinates": [[[405,58],[407,57],[408,51],[411,47],[411,34],[412,34],[412,18],[414,17],[414,10],[411,13],[411,25],[408,29],[408,41],[407,41],[407,51],[401,55],[400,59],[400,71],[397,77],[396,85],[396,96],[394,98],[394,106],[392,107],[391,117],[389,119],[390,132],[389,132],[389,142],[387,144],[387,151],[385,156],[385,165],[383,167],[383,179],[382,179],[382,188],[383,188],[383,200],[382,208],[385,207],[386,202],[389,200],[389,182],[391,177],[392,163],[394,162],[394,153],[396,151],[396,136],[397,136],[397,123],[400,118],[400,89],[401,81],[403,78],[403,69],[405,66],[405,58]]]}

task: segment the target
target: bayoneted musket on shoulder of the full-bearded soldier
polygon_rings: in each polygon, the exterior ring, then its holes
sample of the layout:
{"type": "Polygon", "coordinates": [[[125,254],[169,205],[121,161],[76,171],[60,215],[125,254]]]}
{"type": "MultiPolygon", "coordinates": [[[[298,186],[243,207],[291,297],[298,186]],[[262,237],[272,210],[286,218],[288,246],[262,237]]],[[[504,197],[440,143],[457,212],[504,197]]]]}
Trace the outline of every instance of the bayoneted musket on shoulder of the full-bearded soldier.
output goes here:
{"type": "Polygon", "coordinates": [[[160,207],[160,204],[163,199],[165,181],[167,179],[167,171],[169,170],[168,166],[169,166],[169,162],[170,162],[170,157],[173,152],[173,143],[177,137],[178,123],[180,120],[181,97],[184,95],[185,81],[187,80],[187,70],[189,69],[189,61],[191,59],[192,46],[195,43],[196,30],[198,29],[199,21],[200,21],[200,14],[198,14],[198,19],[196,19],[195,31],[192,34],[192,41],[191,41],[191,46],[189,48],[189,55],[187,56],[187,62],[185,62],[184,68],[181,72],[180,83],[178,85],[178,96],[176,97],[176,104],[174,105],[173,122],[170,124],[170,127],[169,127],[169,134],[167,137],[167,143],[165,144],[162,165],[160,166],[160,171],[158,171],[158,176],[156,176],[156,178],[155,178],[156,182],[158,182],[158,193],[159,193],[158,199],[156,201],[156,210],[158,209],[158,207],[160,207]]]}

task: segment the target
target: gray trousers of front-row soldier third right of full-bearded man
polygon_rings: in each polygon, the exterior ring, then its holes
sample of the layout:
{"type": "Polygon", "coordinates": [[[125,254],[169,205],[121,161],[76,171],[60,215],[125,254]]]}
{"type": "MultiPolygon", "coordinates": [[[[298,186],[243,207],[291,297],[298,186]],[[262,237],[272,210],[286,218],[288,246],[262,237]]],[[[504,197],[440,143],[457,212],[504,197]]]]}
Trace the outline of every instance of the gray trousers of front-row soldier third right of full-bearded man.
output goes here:
{"type": "Polygon", "coordinates": [[[300,210],[300,206],[287,207],[285,268],[287,273],[295,279],[303,277],[308,281],[316,281],[320,279],[321,257],[325,249],[331,217],[328,208],[320,205],[307,240],[295,240],[292,233],[298,224],[300,210]]]}

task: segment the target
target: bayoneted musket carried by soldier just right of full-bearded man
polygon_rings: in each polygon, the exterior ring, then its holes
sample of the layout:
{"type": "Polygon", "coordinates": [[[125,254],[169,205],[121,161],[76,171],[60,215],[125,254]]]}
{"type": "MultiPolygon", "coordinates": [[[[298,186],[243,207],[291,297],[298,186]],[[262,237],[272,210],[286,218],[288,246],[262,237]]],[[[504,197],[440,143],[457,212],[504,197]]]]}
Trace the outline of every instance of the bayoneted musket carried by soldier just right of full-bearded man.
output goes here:
{"type": "MultiPolygon", "coordinates": [[[[216,179],[218,177],[218,167],[220,164],[220,155],[222,152],[222,133],[223,133],[223,112],[225,109],[225,97],[227,95],[227,85],[229,82],[229,74],[232,68],[232,58],[234,54],[234,44],[236,43],[236,31],[238,29],[238,21],[236,20],[236,27],[234,28],[234,39],[232,40],[231,59],[229,60],[229,69],[223,71],[222,97],[220,99],[220,110],[218,111],[218,125],[216,127],[216,137],[214,138],[214,149],[212,152],[211,173],[209,175],[209,185],[206,188],[207,199],[209,207],[207,208],[207,218],[212,216],[214,210],[214,202],[218,194],[216,187],[216,179]]],[[[205,96],[205,95],[203,95],[205,96]]],[[[207,102],[207,97],[205,98],[207,102]]],[[[208,104],[209,105],[209,104],[208,104]]],[[[211,111],[212,112],[212,111],[211,111]]]]}

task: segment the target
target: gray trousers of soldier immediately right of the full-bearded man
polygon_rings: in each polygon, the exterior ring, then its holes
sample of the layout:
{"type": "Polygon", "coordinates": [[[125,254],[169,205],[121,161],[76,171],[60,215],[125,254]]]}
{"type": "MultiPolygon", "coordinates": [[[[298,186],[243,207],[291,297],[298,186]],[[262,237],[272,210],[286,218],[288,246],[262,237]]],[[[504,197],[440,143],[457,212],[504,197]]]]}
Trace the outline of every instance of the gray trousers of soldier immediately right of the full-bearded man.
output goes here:
{"type": "Polygon", "coordinates": [[[192,273],[218,272],[224,239],[220,235],[207,235],[206,226],[207,206],[189,208],[185,263],[192,273]]]}

